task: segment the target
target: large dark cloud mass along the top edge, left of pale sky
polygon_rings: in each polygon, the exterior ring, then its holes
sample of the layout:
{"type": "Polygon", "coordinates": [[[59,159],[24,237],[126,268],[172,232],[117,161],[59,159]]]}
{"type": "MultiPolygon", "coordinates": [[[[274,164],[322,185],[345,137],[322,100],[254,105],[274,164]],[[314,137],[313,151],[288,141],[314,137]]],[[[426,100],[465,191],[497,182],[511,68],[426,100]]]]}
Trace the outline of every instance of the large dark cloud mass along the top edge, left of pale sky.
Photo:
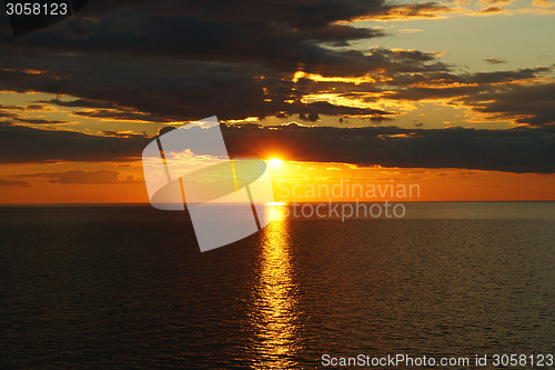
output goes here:
{"type": "MultiPolygon", "coordinates": [[[[258,62],[295,71],[353,64],[349,44],[381,36],[336,21],[377,14],[383,0],[97,1],[20,42],[23,47],[141,57],[258,62]]],[[[0,44],[11,43],[0,33],[0,44]]],[[[363,61],[361,61],[363,63],[363,61]]]]}

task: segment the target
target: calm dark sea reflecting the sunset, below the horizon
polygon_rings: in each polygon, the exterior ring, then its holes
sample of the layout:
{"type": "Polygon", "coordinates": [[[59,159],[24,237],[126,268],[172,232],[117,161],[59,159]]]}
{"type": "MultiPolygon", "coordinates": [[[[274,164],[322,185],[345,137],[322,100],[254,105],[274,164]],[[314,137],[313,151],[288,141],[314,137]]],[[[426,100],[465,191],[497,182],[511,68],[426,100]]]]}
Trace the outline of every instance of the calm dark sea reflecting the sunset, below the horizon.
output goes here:
{"type": "Polygon", "coordinates": [[[185,213],[0,208],[1,368],[554,352],[555,203],[345,222],[273,211],[263,232],[201,253],[185,213]]]}

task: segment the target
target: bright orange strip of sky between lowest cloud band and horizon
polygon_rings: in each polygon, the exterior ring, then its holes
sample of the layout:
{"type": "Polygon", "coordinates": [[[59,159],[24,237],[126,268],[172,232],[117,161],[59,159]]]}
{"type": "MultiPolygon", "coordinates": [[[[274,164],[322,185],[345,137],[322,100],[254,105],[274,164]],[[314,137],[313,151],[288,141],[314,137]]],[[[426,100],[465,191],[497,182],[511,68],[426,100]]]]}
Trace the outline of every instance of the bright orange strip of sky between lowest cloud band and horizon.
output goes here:
{"type": "MultiPolygon", "coordinates": [[[[361,168],[347,163],[297,162],[272,157],[275,202],[306,201],[542,201],[555,200],[555,174],[467,169],[361,168]],[[412,194],[408,191],[413,186],[412,194]],[[392,197],[393,187],[393,197],[392,197]],[[402,187],[405,187],[403,193],[402,187]]],[[[140,162],[3,166],[0,203],[148,203],[140,162]],[[95,183],[68,182],[52,173],[83,171],[95,183]],[[92,174],[118,172],[117,181],[92,174]]]]}

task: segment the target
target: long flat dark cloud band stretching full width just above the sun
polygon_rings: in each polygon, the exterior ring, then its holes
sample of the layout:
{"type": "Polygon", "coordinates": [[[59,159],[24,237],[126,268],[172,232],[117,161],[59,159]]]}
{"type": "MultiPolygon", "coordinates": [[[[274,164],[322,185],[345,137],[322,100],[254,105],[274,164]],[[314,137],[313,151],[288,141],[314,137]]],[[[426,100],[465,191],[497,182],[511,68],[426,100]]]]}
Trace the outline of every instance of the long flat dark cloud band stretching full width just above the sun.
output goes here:
{"type": "MultiPolygon", "coordinates": [[[[555,128],[221,127],[232,157],[268,158],[271,153],[282,152],[291,160],[361,166],[555,172],[555,128]]],[[[164,133],[171,129],[164,128],[164,133]]],[[[134,136],[95,137],[0,124],[0,160],[3,163],[135,161],[141,159],[142,150],[150,140],[134,136]]]]}

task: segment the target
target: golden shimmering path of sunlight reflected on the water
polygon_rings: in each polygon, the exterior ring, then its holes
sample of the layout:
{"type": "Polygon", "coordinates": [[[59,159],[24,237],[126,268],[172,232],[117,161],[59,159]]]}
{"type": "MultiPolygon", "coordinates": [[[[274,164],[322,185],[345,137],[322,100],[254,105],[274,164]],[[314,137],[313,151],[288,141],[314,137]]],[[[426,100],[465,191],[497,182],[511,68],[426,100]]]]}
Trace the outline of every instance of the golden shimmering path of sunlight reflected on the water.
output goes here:
{"type": "Polygon", "coordinates": [[[292,368],[296,349],[297,307],[290,254],[286,210],[266,206],[272,221],[263,229],[259,276],[251,312],[255,333],[254,369],[292,368]]]}

